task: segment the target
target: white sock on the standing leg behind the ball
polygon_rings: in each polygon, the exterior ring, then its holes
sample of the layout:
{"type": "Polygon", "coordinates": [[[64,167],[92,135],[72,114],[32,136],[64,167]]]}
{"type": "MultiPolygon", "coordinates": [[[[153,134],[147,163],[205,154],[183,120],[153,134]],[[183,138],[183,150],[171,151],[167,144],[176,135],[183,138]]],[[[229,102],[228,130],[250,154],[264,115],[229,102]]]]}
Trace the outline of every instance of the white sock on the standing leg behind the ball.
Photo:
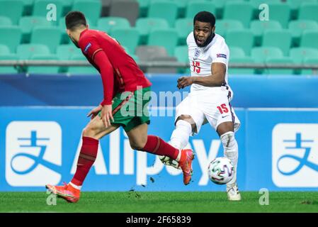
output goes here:
{"type": "Polygon", "coordinates": [[[234,177],[230,182],[227,183],[228,187],[234,186],[237,183],[237,160],[239,159],[239,146],[237,145],[237,140],[235,140],[234,132],[227,132],[220,136],[224,155],[229,160],[232,161],[234,165],[234,177]]]}

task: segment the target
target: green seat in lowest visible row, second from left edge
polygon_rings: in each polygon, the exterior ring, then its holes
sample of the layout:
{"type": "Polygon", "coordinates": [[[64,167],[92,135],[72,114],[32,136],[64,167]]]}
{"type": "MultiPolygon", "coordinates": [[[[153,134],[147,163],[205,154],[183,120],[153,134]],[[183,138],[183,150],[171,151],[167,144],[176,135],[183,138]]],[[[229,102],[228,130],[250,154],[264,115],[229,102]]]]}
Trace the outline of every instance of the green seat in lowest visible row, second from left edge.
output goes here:
{"type": "Polygon", "coordinates": [[[50,49],[42,44],[21,44],[16,48],[20,60],[30,60],[33,55],[50,55],[50,49]]]}

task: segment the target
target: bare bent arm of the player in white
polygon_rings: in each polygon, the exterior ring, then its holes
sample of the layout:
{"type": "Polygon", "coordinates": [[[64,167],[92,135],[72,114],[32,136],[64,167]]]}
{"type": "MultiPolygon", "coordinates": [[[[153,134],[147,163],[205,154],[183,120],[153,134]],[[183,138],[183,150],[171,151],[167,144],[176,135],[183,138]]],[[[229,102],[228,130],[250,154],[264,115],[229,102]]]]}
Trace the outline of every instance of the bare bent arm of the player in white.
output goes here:
{"type": "Polygon", "coordinates": [[[183,89],[191,84],[200,84],[205,87],[220,87],[225,81],[226,71],[227,67],[225,64],[215,62],[211,65],[211,75],[207,77],[180,77],[177,87],[178,89],[183,89]]]}

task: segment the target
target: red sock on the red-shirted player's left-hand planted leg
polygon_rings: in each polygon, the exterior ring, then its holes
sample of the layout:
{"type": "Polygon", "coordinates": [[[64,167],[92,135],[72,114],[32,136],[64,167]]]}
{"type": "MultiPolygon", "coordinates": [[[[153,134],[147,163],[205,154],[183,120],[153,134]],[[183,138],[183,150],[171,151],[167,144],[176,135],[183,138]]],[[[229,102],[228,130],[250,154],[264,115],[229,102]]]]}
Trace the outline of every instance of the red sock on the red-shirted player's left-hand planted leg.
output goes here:
{"type": "Polygon", "coordinates": [[[81,145],[81,152],[79,153],[79,160],[77,160],[77,168],[72,183],[81,186],[86,175],[89,173],[93,162],[96,159],[98,150],[98,140],[83,136],[83,143],[81,145]]]}

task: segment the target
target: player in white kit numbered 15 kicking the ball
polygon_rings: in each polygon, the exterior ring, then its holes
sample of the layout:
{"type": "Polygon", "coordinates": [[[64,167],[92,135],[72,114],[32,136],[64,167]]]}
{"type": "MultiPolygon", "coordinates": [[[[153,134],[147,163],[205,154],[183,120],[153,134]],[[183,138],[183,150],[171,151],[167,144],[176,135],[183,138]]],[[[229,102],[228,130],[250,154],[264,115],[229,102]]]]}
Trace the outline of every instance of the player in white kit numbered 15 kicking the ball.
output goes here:
{"type": "MultiPolygon", "coordinates": [[[[193,18],[193,32],[188,35],[188,57],[191,77],[180,77],[178,89],[191,85],[191,92],[176,106],[176,128],[171,134],[170,144],[183,149],[189,136],[199,133],[205,123],[210,123],[222,141],[224,155],[234,164],[234,177],[227,183],[227,198],[241,200],[237,187],[237,160],[239,148],[234,132],[239,129],[239,118],[230,101],[232,89],[227,82],[229,48],[225,39],[215,34],[215,16],[201,11],[193,18]]],[[[161,156],[166,165],[178,168],[178,162],[161,156]]]]}

